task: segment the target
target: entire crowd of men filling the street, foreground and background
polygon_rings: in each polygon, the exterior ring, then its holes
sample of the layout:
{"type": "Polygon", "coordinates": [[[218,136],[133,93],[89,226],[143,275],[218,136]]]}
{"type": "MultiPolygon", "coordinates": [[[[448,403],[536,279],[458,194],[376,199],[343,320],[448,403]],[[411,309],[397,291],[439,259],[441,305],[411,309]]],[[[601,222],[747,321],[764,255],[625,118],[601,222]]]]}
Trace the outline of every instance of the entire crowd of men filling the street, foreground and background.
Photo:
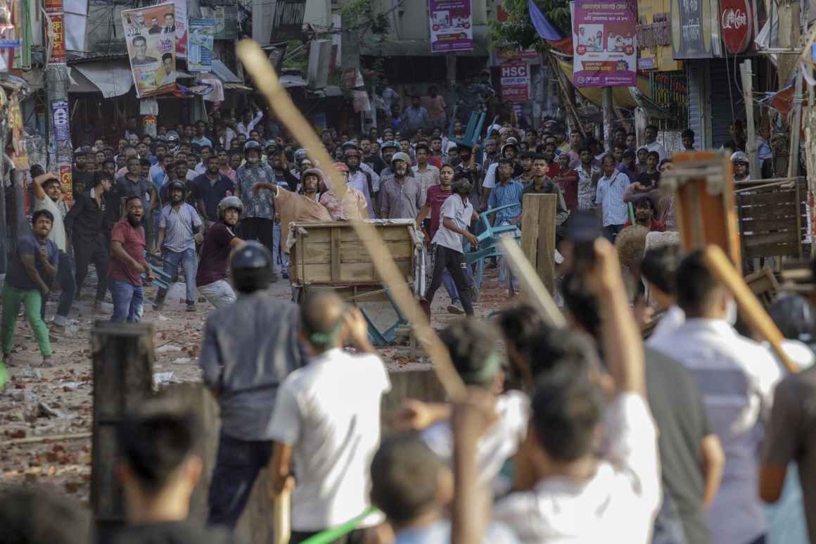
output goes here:
{"type": "MultiPolygon", "coordinates": [[[[481,87],[474,93],[479,110],[481,87]]],[[[657,127],[646,127],[640,147],[619,128],[605,149],[556,122],[524,130],[508,122],[463,145],[459,119],[449,140],[444,121],[437,126],[427,112],[397,117],[407,120],[382,132],[324,130],[337,163],[323,165],[279,131],[264,140],[274,123],[255,107],[240,123],[214,117],[159,127],[156,138],[136,134],[133,119],[110,142],[116,149],[104,138],[83,142],[70,210],[59,177],[32,172],[33,230],[17,245],[2,292],[4,363],[23,305],[51,364],[50,338],[68,334],[91,263],[95,310],[110,291],[113,321],[141,319],[150,263],[170,276],[183,271],[188,310],[197,294],[217,309],[199,362],[220,404],[208,500],[208,523],[220,530],[188,519],[202,470],[195,421],[149,403],[122,421],[129,524],[103,540],[234,542],[266,467],[268,493],[291,493],[295,543],[353,522],[333,542],[763,544],[763,501],[778,500],[796,461],[816,542],[816,370],[783,379],[769,350],[734,329],[730,293],[701,254],[676,245],[646,252],[639,266],[666,310],[641,340],[613,243],[632,222],[676,229],[672,198],[659,191],[672,162],[657,127]],[[328,168],[342,187],[330,186],[328,168]],[[465,256],[479,244],[480,214],[518,237],[525,194],[557,196],[554,258],[565,263],[559,289],[569,328],[548,328],[518,303],[490,323],[452,322],[441,341],[468,394],[406,401],[393,414],[393,426],[406,430],[381,435],[390,381],[361,313],[329,292],[301,304],[295,292],[292,301],[265,295],[270,283],[290,279],[290,223],[414,221],[430,262],[421,294],[431,302],[444,285],[448,311],[469,318],[480,293],[465,256]],[[588,216],[595,239],[579,251],[574,232],[588,216]],[[60,302],[49,329],[45,301],[55,279],[60,302]]],[[[744,181],[744,139],[732,143],[734,179],[744,181]]],[[[682,145],[694,149],[694,132],[683,132],[682,145]]],[[[516,302],[517,270],[503,256],[495,266],[506,300],[516,302]]],[[[157,308],[166,294],[159,290],[157,308]]],[[[802,297],[780,299],[774,312],[803,367],[816,360],[807,343],[816,338],[814,316],[802,297]]],[[[0,506],[0,520],[10,511],[0,506]]]]}

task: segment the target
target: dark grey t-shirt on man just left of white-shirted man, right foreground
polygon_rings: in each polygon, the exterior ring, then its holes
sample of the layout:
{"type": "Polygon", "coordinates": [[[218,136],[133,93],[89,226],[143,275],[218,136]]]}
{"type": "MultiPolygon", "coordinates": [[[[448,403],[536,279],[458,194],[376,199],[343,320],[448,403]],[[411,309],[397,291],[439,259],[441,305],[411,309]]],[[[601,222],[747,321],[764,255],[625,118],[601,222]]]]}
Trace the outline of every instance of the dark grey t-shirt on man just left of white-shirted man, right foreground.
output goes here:
{"type": "Polygon", "coordinates": [[[703,394],[694,374],[681,363],[649,348],[645,348],[645,358],[646,392],[660,431],[663,487],[680,511],[687,542],[707,544],[700,440],[713,431],[703,407],[703,394]]]}

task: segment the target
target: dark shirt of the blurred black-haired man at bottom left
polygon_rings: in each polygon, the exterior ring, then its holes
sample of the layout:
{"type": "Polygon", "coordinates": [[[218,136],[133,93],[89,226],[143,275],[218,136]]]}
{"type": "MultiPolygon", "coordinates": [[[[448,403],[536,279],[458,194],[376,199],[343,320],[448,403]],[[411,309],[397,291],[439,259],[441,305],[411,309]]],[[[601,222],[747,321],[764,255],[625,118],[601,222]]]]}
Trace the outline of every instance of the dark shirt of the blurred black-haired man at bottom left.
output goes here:
{"type": "Polygon", "coordinates": [[[99,544],[242,544],[223,528],[192,521],[135,525],[100,537],[99,544]]]}

